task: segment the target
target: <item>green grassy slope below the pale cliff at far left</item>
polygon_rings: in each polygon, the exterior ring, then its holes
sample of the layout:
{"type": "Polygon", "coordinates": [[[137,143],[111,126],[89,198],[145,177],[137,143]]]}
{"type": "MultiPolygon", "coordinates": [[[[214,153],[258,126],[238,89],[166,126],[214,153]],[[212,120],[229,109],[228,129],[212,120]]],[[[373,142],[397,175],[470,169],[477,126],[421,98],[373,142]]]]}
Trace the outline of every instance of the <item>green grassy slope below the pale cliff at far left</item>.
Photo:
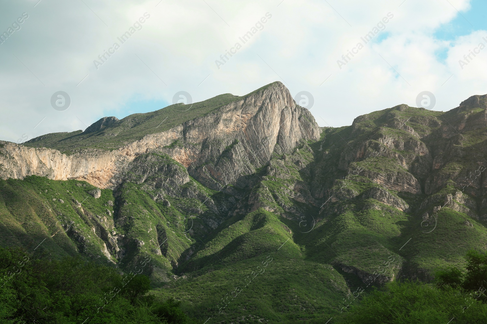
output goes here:
{"type": "Polygon", "coordinates": [[[0,180],[0,244],[20,245],[32,252],[45,239],[39,249],[55,256],[83,252],[108,261],[101,253],[103,242],[92,232],[91,218],[107,217],[113,224],[107,212],[112,190],[101,190],[101,197],[94,199],[88,193],[94,188],[86,182],[37,176],[0,180]],[[75,200],[82,202],[82,208],[91,216],[85,215],[75,200]],[[74,231],[86,238],[86,244],[76,244],[68,237],[74,231]]]}

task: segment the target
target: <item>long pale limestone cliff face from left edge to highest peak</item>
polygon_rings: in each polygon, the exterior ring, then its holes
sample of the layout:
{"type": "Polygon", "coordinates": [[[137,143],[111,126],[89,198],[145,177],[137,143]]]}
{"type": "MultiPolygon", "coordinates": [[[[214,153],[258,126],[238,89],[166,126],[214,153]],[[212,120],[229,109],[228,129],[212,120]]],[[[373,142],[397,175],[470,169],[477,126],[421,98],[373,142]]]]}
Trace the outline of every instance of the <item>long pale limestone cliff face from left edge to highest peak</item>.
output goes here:
{"type": "MultiPolygon", "coordinates": [[[[92,126],[109,127],[113,120],[100,119],[92,126]]],[[[53,149],[1,142],[0,176],[73,178],[99,188],[114,188],[122,181],[121,171],[135,157],[157,150],[183,164],[203,183],[219,188],[255,171],[274,150],[290,152],[300,140],[318,139],[320,132],[309,111],[298,106],[288,89],[277,82],[206,116],[144,136],[112,152],[88,150],[66,155],[53,149]],[[178,145],[171,146],[175,141],[178,145]]]]}

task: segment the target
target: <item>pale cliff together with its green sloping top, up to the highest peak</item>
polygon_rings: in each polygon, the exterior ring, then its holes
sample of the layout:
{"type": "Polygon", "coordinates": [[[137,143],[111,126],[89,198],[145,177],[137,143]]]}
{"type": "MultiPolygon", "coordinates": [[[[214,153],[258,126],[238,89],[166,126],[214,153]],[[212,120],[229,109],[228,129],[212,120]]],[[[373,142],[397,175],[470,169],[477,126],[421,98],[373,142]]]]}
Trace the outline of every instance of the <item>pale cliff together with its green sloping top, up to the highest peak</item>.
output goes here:
{"type": "Polygon", "coordinates": [[[83,133],[63,135],[67,141],[75,141],[74,146],[92,148],[73,155],[60,153],[65,152],[61,145],[66,141],[58,134],[26,143],[36,148],[8,145],[7,153],[0,156],[0,164],[5,166],[0,175],[4,179],[28,175],[74,178],[99,188],[113,188],[123,181],[122,171],[137,156],[152,152],[168,155],[187,168],[189,175],[219,189],[255,172],[272,153],[290,153],[301,141],[317,140],[321,133],[311,113],[296,104],[281,82],[242,97],[221,95],[197,102],[185,111],[171,105],[137,114],[135,124],[133,119],[104,117],[83,133]],[[166,121],[170,118],[172,126],[166,121]],[[108,128],[112,131],[91,136],[108,128]],[[125,144],[117,148],[122,140],[125,144]],[[39,148],[46,144],[57,150],[39,148]]]}

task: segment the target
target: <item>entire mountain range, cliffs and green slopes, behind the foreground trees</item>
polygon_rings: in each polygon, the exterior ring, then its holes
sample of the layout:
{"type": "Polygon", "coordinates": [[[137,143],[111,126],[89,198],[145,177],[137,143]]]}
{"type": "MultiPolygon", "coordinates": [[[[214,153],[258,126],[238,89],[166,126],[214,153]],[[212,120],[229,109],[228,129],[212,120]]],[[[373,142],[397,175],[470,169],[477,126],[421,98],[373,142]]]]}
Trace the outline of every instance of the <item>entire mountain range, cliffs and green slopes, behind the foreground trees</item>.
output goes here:
{"type": "Polygon", "coordinates": [[[359,287],[486,251],[486,99],[320,128],[276,82],[0,142],[0,244],[150,257],[152,293],[203,321],[324,323],[359,287]]]}

